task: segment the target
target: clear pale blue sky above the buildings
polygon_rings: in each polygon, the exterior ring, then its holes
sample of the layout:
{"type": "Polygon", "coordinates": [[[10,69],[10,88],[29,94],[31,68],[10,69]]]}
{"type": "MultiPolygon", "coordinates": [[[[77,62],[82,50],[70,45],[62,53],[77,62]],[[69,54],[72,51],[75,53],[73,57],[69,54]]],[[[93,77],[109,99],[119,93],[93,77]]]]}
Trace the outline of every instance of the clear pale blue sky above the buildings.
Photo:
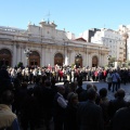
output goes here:
{"type": "Polygon", "coordinates": [[[129,6],[130,0],[0,0],[0,26],[27,29],[29,21],[39,25],[49,18],[78,36],[90,28],[129,25],[129,6]]]}

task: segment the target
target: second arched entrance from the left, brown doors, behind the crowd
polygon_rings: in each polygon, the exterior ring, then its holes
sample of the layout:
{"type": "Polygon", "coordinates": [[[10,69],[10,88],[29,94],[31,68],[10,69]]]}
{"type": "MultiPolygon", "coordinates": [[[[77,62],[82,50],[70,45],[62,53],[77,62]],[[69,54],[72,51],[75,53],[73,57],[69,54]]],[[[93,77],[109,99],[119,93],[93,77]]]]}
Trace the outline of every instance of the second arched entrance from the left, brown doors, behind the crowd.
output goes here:
{"type": "Polygon", "coordinates": [[[40,55],[36,51],[29,54],[29,66],[40,66],[40,55]]]}

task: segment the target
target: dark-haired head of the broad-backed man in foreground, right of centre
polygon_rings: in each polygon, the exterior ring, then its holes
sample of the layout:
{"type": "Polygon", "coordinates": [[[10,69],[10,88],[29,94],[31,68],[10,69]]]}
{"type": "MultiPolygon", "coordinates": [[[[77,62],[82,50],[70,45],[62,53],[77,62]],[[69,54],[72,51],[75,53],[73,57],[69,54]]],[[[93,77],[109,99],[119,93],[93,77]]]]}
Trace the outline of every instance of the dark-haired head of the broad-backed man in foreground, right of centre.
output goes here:
{"type": "Polygon", "coordinates": [[[96,98],[96,91],[95,91],[95,89],[94,88],[88,89],[87,95],[88,95],[88,100],[95,101],[95,98],[96,98]]]}

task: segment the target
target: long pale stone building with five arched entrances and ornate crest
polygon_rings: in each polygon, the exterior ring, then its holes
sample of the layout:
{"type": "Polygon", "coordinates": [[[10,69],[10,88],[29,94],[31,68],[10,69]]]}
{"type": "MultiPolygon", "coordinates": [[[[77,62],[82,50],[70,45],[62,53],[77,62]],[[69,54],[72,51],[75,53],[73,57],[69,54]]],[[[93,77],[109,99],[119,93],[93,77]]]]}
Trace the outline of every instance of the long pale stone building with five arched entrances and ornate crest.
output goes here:
{"type": "Polygon", "coordinates": [[[87,42],[82,38],[70,39],[54,23],[28,24],[27,29],[0,26],[0,66],[54,66],[58,64],[83,67],[105,66],[108,49],[103,44],[87,42]],[[31,53],[24,53],[30,50],[31,53]],[[27,58],[28,57],[28,58],[27,58]]]}

